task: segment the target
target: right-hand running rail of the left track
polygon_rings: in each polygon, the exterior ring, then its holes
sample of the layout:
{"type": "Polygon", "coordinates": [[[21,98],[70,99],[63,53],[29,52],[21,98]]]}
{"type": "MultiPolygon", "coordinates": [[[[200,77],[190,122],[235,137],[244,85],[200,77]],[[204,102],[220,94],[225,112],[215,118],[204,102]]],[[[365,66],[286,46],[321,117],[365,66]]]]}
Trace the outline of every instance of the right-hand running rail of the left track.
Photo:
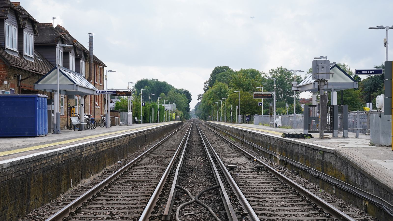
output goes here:
{"type": "Polygon", "coordinates": [[[187,132],[184,134],[184,137],[183,137],[182,141],[180,142],[179,146],[176,149],[176,152],[174,153],[174,155],[173,155],[173,157],[171,159],[171,162],[169,162],[169,164],[167,166],[167,169],[165,169],[165,172],[162,175],[162,178],[161,178],[160,182],[158,182],[158,185],[157,185],[156,189],[154,190],[153,194],[151,195],[151,197],[149,199],[149,202],[146,204],[145,209],[143,210],[140,218],[138,219],[139,221],[148,221],[150,219],[151,212],[154,209],[155,202],[157,201],[158,197],[160,196],[160,192],[161,192],[161,190],[162,190],[162,188],[163,188],[163,186],[165,184],[165,181],[166,181],[166,179],[167,179],[167,177],[168,177],[168,175],[169,175],[169,173],[170,173],[170,171],[172,169],[173,164],[176,161],[176,158],[177,158],[177,156],[178,156],[178,154],[180,152],[180,149],[181,149],[182,145],[184,144],[185,140],[188,141],[188,138],[189,138],[190,133],[191,133],[192,125],[193,124],[190,123],[190,126],[187,129],[187,132]]]}

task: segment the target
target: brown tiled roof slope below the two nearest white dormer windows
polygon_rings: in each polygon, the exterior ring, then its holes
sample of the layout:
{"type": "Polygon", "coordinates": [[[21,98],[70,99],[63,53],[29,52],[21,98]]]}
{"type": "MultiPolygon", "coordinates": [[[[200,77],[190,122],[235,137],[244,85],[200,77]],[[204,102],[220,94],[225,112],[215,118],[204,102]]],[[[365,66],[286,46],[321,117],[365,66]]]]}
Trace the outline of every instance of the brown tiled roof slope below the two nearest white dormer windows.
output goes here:
{"type": "Polygon", "coordinates": [[[7,53],[6,50],[0,46],[0,58],[11,67],[24,69],[30,72],[37,72],[39,74],[46,74],[53,65],[44,58],[37,50],[34,50],[34,62],[25,59],[20,53],[13,55],[7,53]]]}

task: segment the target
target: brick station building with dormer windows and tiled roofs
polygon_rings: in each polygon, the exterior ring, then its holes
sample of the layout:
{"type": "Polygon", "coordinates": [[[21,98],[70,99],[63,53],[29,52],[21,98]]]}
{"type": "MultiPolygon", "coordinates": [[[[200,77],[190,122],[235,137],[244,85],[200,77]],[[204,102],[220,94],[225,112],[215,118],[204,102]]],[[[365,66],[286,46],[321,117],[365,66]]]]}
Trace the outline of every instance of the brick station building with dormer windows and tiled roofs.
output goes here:
{"type": "MultiPolygon", "coordinates": [[[[89,53],[63,27],[39,23],[19,2],[0,0],[0,93],[1,94],[45,94],[51,101],[53,90],[37,87],[37,82],[48,77],[53,68],[61,67],[61,73],[88,78],[89,53]],[[72,45],[70,48],[57,44],[72,45]],[[37,89],[38,88],[38,89],[37,89]]],[[[86,33],[86,39],[87,39],[86,33]]],[[[103,89],[104,67],[106,65],[93,56],[93,76],[90,83],[99,90],[103,89]]],[[[57,73],[57,70],[55,70],[57,73]]],[[[56,78],[57,79],[57,78],[56,78]]],[[[81,85],[79,85],[81,86],[81,85]]],[[[104,114],[105,98],[92,95],[93,90],[83,94],[84,113],[93,115],[97,120],[104,114]]],[[[69,127],[70,107],[79,111],[81,95],[77,92],[61,90],[60,110],[61,129],[69,127]]],[[[49,125],[49,124],[48,124],[49,125]]],[[[49,130],[51,131],[51,130],[49,130]]]]}

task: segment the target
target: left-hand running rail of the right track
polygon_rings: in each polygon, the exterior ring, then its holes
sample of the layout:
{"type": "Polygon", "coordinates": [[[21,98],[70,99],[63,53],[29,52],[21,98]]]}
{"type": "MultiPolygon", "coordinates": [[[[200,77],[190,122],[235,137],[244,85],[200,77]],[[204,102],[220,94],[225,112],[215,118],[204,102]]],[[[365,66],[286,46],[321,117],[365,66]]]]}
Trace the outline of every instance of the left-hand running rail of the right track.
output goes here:
{"type": "Polygon", "coordinates": [[[237,186],[235,180],[231,176],[231,174],[228,171],[228,169],[226,169],[225,164],[222,162],[222,160],[220,159],[219,155],[217,154],[217,152],[215,151],[213,146],[210,144],[208,138],[206,137],[206,135],[203,133],[202,130],[201,130],[201,134],[204,137],[204,139],[206,140],[206,144],[210,148],[210,150],[213,153],[214,157],[216,158],[217,162],[219,163],[220,168],[224,172],[226,179],[231,184],[233,192],[236,194],[237,198],[239,199],[239,202],[241,203],[244,211],[248,213],[248,215],[247,215],[248,219],[250,219],[250,221],[260,221],[260,219],[258,218],[258,215],[255,213],[255,211],[252,208],[252,206],[250,205],[250,203],[248,203],[248,200],[243,195],[243,193],[240,190],[239,186],[237,186]]]}

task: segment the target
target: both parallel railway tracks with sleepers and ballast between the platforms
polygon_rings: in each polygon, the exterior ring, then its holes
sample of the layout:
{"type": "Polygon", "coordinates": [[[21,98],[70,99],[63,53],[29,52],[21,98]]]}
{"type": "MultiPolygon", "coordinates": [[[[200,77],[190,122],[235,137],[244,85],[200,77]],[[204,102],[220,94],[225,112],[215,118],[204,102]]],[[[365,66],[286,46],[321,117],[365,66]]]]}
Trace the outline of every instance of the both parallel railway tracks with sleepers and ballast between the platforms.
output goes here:
{"type": "Polygon", "coordinates": [[[191,120],[47,220],[354,219],[191,120]]]}

